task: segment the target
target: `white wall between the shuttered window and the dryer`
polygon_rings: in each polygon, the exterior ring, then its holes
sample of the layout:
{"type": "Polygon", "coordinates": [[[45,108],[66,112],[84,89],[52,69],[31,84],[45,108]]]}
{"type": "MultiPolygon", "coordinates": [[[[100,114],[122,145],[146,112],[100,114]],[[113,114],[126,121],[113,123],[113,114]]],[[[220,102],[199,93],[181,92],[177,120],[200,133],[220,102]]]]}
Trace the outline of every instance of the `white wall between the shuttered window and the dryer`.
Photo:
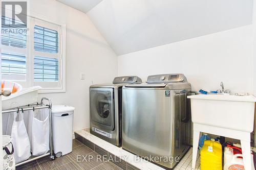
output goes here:
{"type": "Polygon", "coordinates": [[[112,82],[117,56],[88,16],[54,0],[32,0],[30,11],[66,23],[66,92],[43,93],[53,105],[75,107],[74,130],[89,127],[89,86],[112,82]],[[86,80],[80,80],[80,73],[86,80]]]}

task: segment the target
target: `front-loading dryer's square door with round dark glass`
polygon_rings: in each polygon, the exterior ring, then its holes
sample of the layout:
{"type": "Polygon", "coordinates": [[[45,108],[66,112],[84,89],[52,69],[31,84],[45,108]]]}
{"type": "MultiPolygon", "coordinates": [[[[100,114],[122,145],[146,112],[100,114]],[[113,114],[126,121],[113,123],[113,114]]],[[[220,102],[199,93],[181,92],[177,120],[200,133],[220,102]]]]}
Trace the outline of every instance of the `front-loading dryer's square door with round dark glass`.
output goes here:
{"type": "Polygon", "coordinates": [[[113,89],[91,90],[92,120],[103,126],[114,127],[113,102],[113,89]]]}

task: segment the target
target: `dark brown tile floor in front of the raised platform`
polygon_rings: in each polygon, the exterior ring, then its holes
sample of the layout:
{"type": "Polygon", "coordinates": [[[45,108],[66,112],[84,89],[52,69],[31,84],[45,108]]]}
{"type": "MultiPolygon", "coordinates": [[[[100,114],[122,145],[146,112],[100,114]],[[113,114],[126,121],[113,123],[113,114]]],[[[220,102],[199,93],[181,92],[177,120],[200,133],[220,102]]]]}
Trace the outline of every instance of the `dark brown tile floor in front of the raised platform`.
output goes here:
{"type": "Polygon", "coordinates": [[[51,160],[49,157],[41,158],[32,163],[16,167],[17,170],[120,170],[118,166],[110,161],[104,160],[98,153],[94,152],[78,140],[73,140],[73,152],[51,160]],[[83,155],[80,161],[77,161],[77,155],[83,155]],[[90,155],[90,158],[89,158],[90,155]],[[86,157],[87,156],[87,157],[86,157]],[[100,158],[100,159],[97,159],[100,158]],[[81,161],[85,159],[84,161],[81,161]],[[90,161],[88,161],[90,159],[90,161]]]}

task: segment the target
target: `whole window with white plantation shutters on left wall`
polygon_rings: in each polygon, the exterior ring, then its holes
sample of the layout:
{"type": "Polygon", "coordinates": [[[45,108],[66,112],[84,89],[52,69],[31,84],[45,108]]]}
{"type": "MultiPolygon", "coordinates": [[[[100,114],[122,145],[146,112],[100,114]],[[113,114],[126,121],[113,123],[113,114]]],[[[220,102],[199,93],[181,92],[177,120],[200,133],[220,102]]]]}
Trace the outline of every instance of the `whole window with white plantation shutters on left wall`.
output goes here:
{"type": "MultiPolygon", "coordinates": [[[[65,91],[65,25],[28,17],[28,31],[2,30],[2,79],[41,92],[65,91]]],[[[3,24],[11,19],[2,16],[3,24]],[[3,20],[5,20],[3,22],[3,20]]]]}

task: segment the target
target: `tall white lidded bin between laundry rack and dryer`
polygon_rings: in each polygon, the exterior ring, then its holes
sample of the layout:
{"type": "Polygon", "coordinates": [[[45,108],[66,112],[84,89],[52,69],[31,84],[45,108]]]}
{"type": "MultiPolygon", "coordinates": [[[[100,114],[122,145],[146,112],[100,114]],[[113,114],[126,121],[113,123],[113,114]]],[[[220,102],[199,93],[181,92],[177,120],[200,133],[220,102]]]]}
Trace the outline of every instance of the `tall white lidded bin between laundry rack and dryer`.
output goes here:
{"type": "Polygon", "coordinates": [[[74,107],[52,106],[53,152],[56,157],[72,152],[74,107]]]}

